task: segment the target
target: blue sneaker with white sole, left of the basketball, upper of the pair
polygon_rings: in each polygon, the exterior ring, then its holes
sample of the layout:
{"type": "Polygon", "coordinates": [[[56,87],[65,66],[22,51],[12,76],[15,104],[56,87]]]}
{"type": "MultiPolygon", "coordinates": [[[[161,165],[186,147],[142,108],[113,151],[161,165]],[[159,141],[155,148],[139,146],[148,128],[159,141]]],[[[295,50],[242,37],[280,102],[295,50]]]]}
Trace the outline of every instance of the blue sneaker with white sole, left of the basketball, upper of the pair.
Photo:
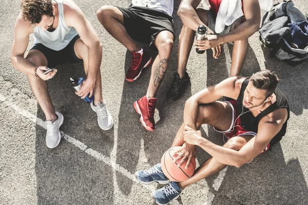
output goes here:
{"type": "Polygon", "coordinates": [[[159,182],[161,185],[169,183],[169,179],[164,175],[160,163],[148,170],[134,173],[134,177],[144,185],[149,185],[153,182],[159,182]]]}

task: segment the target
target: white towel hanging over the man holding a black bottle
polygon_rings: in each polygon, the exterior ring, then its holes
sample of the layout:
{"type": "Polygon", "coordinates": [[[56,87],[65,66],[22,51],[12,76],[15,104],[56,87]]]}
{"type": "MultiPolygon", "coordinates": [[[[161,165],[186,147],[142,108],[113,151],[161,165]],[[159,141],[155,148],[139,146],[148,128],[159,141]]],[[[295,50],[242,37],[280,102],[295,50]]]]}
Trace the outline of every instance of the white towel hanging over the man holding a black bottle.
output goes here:
{"type": "MultiPolygon", "coordinates": [[[[259,0],[259,4],[262,10],[269,11],[273,0],[259,0]]],[[[232,25],[243,15],[241,0],[222,0],[216,17],[215,32],[221,33],[225,26],[232,25]]]]}

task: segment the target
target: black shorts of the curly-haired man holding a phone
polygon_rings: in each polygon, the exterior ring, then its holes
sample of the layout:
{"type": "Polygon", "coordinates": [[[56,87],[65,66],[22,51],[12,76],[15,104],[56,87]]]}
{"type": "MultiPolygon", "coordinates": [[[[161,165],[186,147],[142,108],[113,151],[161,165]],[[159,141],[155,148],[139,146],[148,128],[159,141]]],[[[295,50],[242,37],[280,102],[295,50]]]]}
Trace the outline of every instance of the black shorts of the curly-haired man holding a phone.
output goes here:
{"type": "Polygon", "coordinates": [[[35,49],[41,51],[47,58],[48,68],[54,68],[56,65],[63,64],[67,61],[72,63],[82,63],[83,60],[78,58],[74,51],[74,45],[78,38],[80,38],[80,36],[76,35],[71,40],[71,42],[60,51],[55,51],[50,48],[47,48],[43,44],[34,44],[34,46],[30,50],[35,49]]]}

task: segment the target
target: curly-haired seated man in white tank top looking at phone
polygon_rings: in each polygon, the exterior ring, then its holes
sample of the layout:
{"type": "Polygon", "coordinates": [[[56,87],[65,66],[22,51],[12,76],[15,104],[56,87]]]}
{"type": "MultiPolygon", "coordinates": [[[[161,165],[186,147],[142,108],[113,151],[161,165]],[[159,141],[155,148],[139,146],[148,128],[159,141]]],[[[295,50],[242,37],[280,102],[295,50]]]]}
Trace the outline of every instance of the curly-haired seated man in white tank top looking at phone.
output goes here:
{"type": "Polygon", "coordinates": [[[99,126],[111,129],[113,120],[102,97],[102,45],[81,9],[71,0],[23,0],[21,9],[15,24],[11,61],[14,68],[27,75],[46,116],[47,147],[59,145],[63,115],[54,110],[46,83],[57,70],[46,71],[65,61],[84,64],[87,78],[76,94],[81,98],[93,95],[91,108],[98,115],[99,126]],[[31,33],[34,46],[24,57],[31,33]]]}

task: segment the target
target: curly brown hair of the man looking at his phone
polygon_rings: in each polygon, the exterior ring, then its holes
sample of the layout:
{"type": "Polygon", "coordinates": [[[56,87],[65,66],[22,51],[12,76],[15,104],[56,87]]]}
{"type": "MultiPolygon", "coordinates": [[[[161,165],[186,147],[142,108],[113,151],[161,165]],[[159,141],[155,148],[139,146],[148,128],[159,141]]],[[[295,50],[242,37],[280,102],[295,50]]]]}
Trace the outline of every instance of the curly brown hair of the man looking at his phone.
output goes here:
{"type": "Polygon", "coordinates": [[[22,0],[22,14],[24,20],[31,25],[39,24],[42,16],[53,16],[52,0],[22,0]]]}

